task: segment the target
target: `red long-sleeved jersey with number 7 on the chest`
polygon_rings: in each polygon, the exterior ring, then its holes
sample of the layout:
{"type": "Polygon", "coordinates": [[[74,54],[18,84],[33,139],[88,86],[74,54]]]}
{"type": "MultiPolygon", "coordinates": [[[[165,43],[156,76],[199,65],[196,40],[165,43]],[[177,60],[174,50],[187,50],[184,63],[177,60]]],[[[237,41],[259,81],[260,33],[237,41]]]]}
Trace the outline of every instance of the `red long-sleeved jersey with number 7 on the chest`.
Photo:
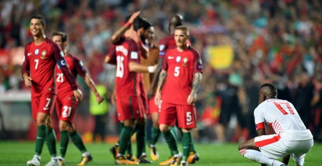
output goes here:
{"type": "Polygon", "coordinates": [[[50,39],[46,38],[39,45],[35,42],[26,44],[24,60],[22,64],[22,75],[27,73],[32,78],[31,97],[38,97],[41,93],[55,94],[54,68],[56,62],[60,65],[66,80],[76,90],[77,85],[70,74],[60,47],[50,39]]]}

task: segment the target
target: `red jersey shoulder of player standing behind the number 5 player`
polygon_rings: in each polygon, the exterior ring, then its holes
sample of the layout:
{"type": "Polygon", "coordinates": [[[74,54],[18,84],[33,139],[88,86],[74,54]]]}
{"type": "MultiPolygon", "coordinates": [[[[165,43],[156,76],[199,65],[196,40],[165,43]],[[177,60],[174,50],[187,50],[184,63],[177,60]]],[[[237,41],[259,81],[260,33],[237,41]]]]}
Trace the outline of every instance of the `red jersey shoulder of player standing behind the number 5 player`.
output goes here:
{"type": "MultiPolygon", "coordinates": [[[[188,45],[191,45],[190,41],[187,41],[188,45]]],[[[176,47],[176,41],[174,40],[174,34],[171,34],[169,36],[164,37],[159,42],[159,58],[163,58],[165,55],[165,52],[168,50],[168,48],[176,47]]]]}

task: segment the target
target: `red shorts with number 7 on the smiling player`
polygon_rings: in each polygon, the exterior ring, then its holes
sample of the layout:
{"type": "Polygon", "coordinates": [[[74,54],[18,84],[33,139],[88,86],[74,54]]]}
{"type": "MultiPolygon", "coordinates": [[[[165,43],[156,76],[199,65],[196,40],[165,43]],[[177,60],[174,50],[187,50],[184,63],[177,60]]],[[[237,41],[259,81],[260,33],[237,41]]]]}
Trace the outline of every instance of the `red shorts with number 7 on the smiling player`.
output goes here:
{"type": "Polygon", "coordinates": [[[36,119],[38,112],[50,114],[54,108],[56,97],[52,93],[43,93],[39,97],[31,98],[32,117],[36,119]]]}

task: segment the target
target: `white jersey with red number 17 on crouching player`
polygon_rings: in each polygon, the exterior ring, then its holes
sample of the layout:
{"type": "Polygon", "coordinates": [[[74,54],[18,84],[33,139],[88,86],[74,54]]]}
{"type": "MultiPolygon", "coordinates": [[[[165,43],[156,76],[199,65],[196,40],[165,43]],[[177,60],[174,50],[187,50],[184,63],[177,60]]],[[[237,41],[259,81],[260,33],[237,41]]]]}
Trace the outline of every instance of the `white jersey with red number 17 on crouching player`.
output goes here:
{"type": "Polygon", "coordinates": [[[306,129],[293,104],[286,100],[268,99],[254,111],[256,130],[271,126],[276,134],[288,141],[309,140],[313,136],[306,129]]]}

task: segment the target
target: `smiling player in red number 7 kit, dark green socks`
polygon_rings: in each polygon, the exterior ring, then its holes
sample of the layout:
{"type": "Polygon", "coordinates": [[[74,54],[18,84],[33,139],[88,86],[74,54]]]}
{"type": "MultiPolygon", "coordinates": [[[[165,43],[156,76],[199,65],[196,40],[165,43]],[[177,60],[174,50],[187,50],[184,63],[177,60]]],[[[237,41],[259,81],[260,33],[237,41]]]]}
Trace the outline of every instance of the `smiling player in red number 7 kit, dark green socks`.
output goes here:
{"type": "Polygon", "coordinates": [[[21,71],[25,85],[31,87],[32,117],[38,125],[36,153],[33,159],[27,162],[28,166],[40,166],[40,155],[45,142],[51,155],[51,161],[46,166],[60,166],[56,151],[56,135],[50,120],[50,111],[55,103],[53,73],[56,63],[71,85],[76,100],[82,100],[81,91],[66,66],[60,47],[44,35],[45,28],[46,22],[43,16],[31,17],[30,32],[34,41],[25,46],[21,71]]]}

